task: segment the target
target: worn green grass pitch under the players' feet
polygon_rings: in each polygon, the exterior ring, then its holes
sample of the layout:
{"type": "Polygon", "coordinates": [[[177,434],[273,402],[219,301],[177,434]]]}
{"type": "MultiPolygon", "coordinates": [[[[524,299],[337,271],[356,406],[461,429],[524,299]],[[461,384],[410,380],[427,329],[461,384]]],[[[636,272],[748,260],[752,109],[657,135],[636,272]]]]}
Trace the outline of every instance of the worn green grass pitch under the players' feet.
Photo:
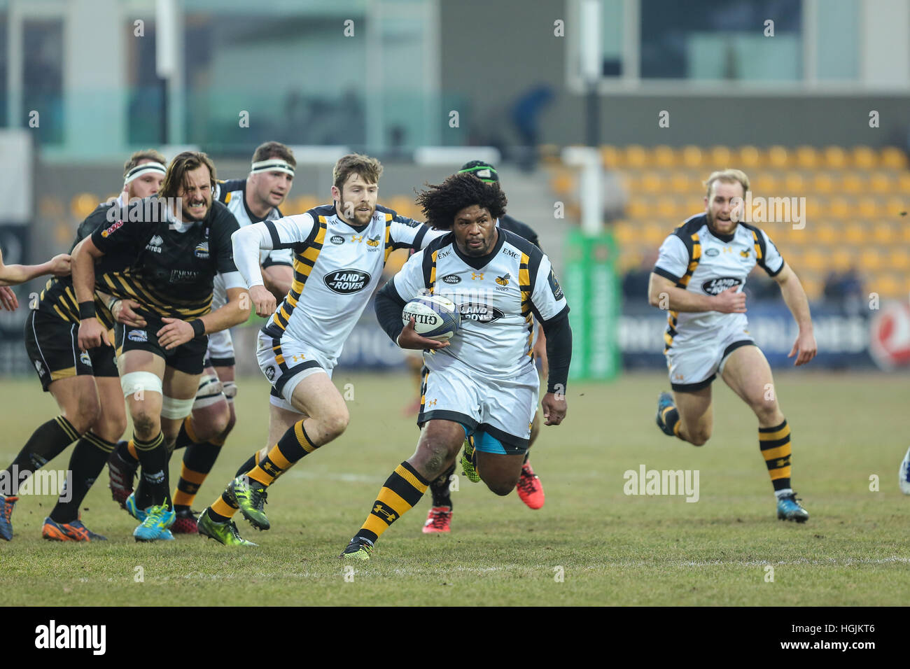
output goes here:
{"type": "MultiPolygon", "coordinates": [[[[273,529],[258,548],[227,549],[198,536],[137,544],[136,522],[111,502],[102,473],[83,521],[110,541],[46,542],[50,497],[23,497],[15,538],[0,542],[7,606],[243,604],[656,604],[903,605],[910,592],[910,499],[897,489],[906,448],[906,379],[782,373],[777,391],[793,430],[794,488],[812,518],[776,520],[756,422],[714,384],[713,438],[702,448],[654,425],[665,375],[571,387],[569,415],[544,428],[531,461],[546,505],[497,497],[460,478],[450,535],[424,535],[430,506],[396,522],[373,560],[338,559],[389,472],[413,452],[417,431],[401,415],[404,376],[339,371],[352,384],[351,423],[269,492],[273,529]],[[698,470],[698,502],[630,496],[627,470],[698,470]],[[875,481],[879,478],[879,490],[875,481]],[[769,581],[773,567],[773,582],[769,581]]],[[[239,381],[238,426],[197,497],[202,509],[266,436],[268,386],[239,381]]],[[[56,414],[35,379],[0,384],[2,466],[56,414]]],[[[66,469],[70,451],[48,466],[66,469]]],[[[177,481],[179,457],[172,461],[177,481]]]]}

